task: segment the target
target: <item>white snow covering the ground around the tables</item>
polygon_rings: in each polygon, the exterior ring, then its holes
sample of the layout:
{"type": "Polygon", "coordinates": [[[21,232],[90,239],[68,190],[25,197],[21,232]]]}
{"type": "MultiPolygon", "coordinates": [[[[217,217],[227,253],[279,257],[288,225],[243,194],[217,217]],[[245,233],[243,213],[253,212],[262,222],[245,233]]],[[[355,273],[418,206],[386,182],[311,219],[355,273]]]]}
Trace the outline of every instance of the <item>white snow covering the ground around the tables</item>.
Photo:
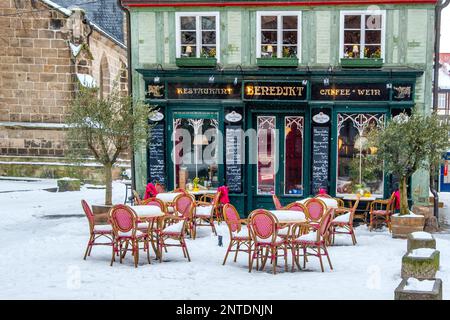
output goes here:
{"type": "MultiPolygon", "coordinates": [[[[129,256],[110,267],[109,247],[94,247],[84,261],[88,223],[80,200],[101,203],[104,190],[51,193],[36,190],[39,182],[29,184],[26,189],[34,191],[0,193],[0,299],[393,299],[401,281],[406,241],[392,239],[387,231],[370,233],[365,226],[356,231],[356,246],[349,237],[337,238],[338,245],[329,249],[334,270],[325,262],[324,273],[313,257],[306,270],[293,273],[284,272],[281,261],[275,276],[270,268],[248,273],[245,254],[236,263],[230,255],[222,266],[228,244],[224,224],[218,227],[223,247],[206,227],[196,240],[187,240],[190,263],[179,248],[169,248],[163,263],[153,259],[149,265],[141,255],[137,269],[129,256]]],[[[0,190],[16,186],[0,180],[0,190]]],[[[47,188],[48,181],[41,186],[47,188]]],[[[115,203],[123,201],[124,192],[123,184],[114,183],[115,203]]],[[[445,285],[450,283],[450,235],[435,237],[445,299],[450,297],[445,285]]]]}

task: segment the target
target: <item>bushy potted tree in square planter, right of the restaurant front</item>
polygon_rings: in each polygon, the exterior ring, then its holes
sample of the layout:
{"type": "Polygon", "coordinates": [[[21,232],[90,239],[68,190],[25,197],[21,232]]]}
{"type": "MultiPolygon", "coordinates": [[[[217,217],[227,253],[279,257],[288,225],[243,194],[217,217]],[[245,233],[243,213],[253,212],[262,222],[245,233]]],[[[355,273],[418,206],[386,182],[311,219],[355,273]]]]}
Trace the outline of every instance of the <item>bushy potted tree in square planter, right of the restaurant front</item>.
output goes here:
{"type": "Polygon", "coordinates": [[[386,172],[400,182],[400,213],[392,216],[393,237],[423,230],[425,217],[415,215],[408,206],[408,181],[417,170],[430,170],[433,162],[442,159],[450,146],[449,130],[436,114],[423,115],[414,109],[411,116],[403,112],[372,131],[377,156],[384,160],[386,172]]]}

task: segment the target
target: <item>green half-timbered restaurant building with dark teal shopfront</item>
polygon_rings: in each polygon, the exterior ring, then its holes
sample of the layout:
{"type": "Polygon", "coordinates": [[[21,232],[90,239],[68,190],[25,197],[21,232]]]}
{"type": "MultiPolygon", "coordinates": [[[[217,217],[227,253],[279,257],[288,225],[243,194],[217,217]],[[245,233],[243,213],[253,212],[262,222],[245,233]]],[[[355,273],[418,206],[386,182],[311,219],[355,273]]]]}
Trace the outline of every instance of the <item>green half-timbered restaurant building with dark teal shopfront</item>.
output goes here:
{"type": "MultiPolygon", "coordinates": [[[[432,107],[434,0],[122,0],[133,94],[158,110],[136,186],[226,184],[240,212],[326,189],[386,198],[368,133],[432,107]]],[[[401,137],[399,137],[401,139],[401,137]]],[[[428,201],[428,173],[410,183],[428,201]]]]}

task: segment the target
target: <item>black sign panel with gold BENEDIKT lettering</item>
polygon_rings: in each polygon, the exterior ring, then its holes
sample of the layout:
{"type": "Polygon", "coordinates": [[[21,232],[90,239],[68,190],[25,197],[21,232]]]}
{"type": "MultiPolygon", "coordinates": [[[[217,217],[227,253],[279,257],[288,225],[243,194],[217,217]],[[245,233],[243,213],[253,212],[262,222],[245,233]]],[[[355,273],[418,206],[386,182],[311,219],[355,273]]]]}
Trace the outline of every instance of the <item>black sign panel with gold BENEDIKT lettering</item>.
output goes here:
{"type": "Polygon", "coordinates": [[[300,82],[246,82],[244,100],[297,100],[307,97],[305,81],[300,82]]]}

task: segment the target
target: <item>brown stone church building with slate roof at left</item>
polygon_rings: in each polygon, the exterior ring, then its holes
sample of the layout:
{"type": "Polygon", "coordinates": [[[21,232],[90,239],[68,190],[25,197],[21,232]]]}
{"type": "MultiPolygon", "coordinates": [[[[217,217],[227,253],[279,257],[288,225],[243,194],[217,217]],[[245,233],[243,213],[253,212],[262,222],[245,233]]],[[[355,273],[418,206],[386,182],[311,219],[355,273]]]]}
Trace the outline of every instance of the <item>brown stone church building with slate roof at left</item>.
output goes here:
{"type": "MultiPolygon", "coordinates": [[[[111,0],[0,0],[0,175],[74,173],[64,115],[77,83],[127,90],[124,20],[111,0]]],[[[96,168],[85,166],[85,177],[96,168]]]]}

